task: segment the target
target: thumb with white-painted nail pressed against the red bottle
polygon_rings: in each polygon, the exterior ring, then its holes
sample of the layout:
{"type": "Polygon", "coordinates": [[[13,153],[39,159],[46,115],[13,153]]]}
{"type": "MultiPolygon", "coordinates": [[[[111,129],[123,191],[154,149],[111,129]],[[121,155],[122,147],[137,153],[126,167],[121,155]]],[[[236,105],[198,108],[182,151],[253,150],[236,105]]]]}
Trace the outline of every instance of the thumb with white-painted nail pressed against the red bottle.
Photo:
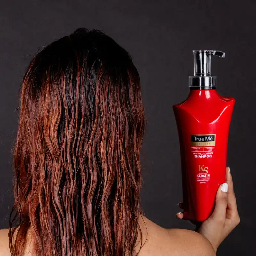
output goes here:
{"type": "Polygon", "coordinates": [[[223,183],[222,185],[220,185],[216,195],[215,209],[212,213],[213,218],[225,221],[226,209],[228,204],[227,192],[228,192],[228,183],[223,183]]]}

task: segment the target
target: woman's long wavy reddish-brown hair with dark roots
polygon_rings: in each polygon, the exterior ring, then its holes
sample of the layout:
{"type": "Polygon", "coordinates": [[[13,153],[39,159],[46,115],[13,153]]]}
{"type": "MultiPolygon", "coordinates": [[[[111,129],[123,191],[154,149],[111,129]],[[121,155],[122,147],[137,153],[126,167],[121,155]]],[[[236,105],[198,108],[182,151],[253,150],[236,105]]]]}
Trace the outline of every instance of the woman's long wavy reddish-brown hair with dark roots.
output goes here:
{"type": "Polygon", "coordinates": [[[129,53],[77,29],[36,54],[20,97],[11,254],[31,230],[35,255],[132,255],[145,117],[129,53]]]}

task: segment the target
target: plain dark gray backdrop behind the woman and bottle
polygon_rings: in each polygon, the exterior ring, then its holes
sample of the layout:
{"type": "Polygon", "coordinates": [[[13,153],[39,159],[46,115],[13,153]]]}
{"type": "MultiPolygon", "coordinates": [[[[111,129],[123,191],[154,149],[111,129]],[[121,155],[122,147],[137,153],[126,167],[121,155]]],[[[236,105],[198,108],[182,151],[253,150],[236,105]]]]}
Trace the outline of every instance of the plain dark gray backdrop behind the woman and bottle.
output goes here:
{"type": "Polygon", "coordinates": [[[146,216],[165,228],[194,228],[175,218],[182,190],[172,105],[188,95],[193,49],[226,52],[226,59],[212,58],[212,74],[218,77],[218,92],[236,99],[227,164],[241,223],[217,255],[252,255],[256,251],[255,14],[253,1],[1,0],[0,228],[8,227],[13,203],[11,150],[25,68],[40,46],[79,27],[97,28],[131,53],[140,73],[148,122],[141,201],[146,216]]]}

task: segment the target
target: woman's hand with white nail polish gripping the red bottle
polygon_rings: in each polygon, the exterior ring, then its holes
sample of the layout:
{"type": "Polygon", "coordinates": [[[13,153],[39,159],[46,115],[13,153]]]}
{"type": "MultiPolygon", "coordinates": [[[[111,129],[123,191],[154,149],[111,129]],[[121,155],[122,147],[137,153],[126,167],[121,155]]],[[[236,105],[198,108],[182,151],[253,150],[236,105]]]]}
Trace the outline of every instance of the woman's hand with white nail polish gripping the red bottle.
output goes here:
{"type": "MultiPolygon", "coordinates": [[[[217,191],[215,209],[212,215],[197,229],[197,232],[211,242],[215,252],[221,242],[240,222],[229,167],[226,168],[226,182],[220,185],[217,191]]],[[[179,203],[179,205],[182,208],[182,204],[179,203]]],[[[178,219],[182,219],[183,213],[179,212],[176,216],[178,219]]]]}

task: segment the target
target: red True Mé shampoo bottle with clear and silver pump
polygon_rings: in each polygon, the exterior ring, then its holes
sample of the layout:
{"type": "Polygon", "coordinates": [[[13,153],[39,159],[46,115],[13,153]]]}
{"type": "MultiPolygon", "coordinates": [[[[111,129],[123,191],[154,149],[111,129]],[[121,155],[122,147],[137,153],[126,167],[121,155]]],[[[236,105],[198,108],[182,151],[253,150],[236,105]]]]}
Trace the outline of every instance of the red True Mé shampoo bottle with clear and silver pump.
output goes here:
{"type": "Polygon", "coordinates": [[[194,50],[194,76],[188,98],[173,106],[178,127],[184,219],[204,221],[212,213],[219,186],[226,181],[228,132],[235,100],[216,91],[211,76],[214,50],[194,50]]]}

